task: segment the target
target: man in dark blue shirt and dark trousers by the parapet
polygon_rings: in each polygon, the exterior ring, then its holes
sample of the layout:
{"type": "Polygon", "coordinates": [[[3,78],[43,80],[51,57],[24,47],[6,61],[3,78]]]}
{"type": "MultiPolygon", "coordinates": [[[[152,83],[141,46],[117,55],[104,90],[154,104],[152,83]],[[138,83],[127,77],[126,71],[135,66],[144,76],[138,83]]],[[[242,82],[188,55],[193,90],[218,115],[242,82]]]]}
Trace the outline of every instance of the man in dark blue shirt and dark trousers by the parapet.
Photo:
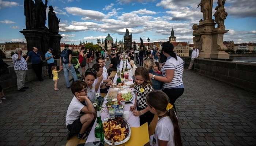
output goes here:
{"type": "Polygon", "coordinates": [[[42,78],[42,57],[37,52],[37,47],[33,47],[33,51],[30,51],[27,55],[26,61],[28,61],[30,58],[30,61],[32,63],[32,68],[35,71],[35,74],[37,75],[37,78],[39,81],[43,81],[42,78]]]}

